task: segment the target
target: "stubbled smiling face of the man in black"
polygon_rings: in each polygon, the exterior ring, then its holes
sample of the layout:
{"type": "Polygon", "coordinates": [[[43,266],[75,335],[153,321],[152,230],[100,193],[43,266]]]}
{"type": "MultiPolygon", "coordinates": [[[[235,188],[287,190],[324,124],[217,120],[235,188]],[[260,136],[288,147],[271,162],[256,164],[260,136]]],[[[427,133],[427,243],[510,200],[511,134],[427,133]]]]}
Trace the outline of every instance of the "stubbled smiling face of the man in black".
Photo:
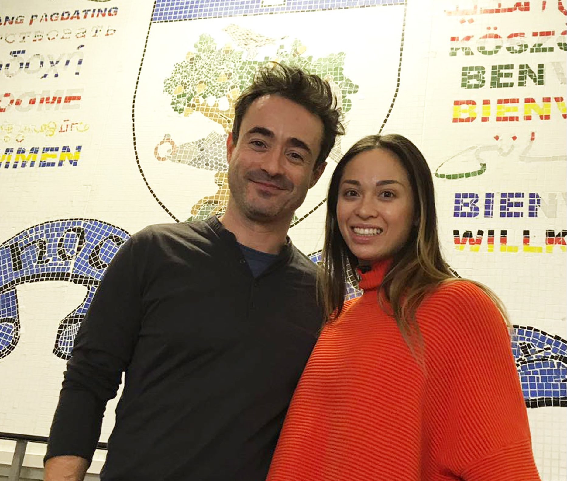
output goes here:
{"type": "Polygon", "coordinates": [[[326,163],[314,169],[323,122],[301,105],[264,95],[248,107],[238,142],[227,140],[229,187],[235,207],[259,222],[283,220],[303,203],[326,163]]]}

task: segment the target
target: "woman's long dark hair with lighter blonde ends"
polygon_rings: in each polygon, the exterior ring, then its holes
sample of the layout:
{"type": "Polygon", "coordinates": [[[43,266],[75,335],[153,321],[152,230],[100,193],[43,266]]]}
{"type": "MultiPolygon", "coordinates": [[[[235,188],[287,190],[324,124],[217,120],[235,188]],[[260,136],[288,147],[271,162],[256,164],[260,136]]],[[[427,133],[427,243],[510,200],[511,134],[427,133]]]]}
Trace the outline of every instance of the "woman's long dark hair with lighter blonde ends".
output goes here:
{"type": "MultiPolygon", "coordinates": [[[[456,279],[439,248],[437,212],[433,178],[420,150],[401,135],[370,135],[363,137],[344,154],[331,177],[327,194],[327,220],[323,247],[323,270],[319,277],[319,295],[327,321],[335,319],[344,307],[349,273],[358,266],[358,260],[350,252],[337,223],[338,187],[345,166],[359,153],[384,149],[400,160],[413,191],[414,225],[409,239],[394,255],[390,269],[378,289],[378,302],[390,305],[405,341],[412,352],[421,348],[421,334],[416,322],[416,310],[431,291],[444,282],[456,279]]],[[[483,290],[500,310],[503,320],[510,326],[506,309],[488,287],[473,282],[483,290]]]]}

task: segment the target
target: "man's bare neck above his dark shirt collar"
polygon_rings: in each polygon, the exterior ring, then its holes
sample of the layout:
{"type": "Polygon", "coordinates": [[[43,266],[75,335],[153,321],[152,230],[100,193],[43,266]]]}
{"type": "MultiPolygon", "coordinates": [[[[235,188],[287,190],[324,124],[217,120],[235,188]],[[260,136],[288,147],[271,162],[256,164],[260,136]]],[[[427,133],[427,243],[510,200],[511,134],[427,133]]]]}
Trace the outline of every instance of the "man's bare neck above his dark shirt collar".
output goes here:
{"type": "Polygon", "coordinates": [[[219,220],[235,235],[240,244],[268,254],[280,253],[286,243],[291,221],[291,219],[282,219],[270,223],[258,222],[248,219],[236,208],[231,208],[230,204],[219,220]]]}

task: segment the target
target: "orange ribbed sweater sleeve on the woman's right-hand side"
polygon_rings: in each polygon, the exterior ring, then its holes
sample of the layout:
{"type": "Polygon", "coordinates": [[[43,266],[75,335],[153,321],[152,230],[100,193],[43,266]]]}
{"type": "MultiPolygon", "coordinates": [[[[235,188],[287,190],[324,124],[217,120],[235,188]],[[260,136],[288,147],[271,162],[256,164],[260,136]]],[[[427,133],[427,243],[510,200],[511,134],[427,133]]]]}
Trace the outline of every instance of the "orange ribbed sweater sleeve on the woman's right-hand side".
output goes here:
{"type": "Polygon", "coordinates": [[[431,447],[464,481],[539,481],[510,334],[492,300],[470,282],[420,308],[428,355],[431,447]],[[442,326],[439,329],[439,326],[442,326]]]}

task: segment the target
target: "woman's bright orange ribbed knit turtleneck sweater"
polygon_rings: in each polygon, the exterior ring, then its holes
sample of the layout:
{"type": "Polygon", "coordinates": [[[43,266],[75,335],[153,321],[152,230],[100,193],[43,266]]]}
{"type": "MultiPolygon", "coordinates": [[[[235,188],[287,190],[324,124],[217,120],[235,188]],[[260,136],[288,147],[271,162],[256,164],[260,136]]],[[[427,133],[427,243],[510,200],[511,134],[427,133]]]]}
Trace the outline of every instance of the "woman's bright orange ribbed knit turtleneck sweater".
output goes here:
{"type": "Polygon", "coordinates": [[[376,288],[328,324],[287,412],[268,481],[540,481],[510,336],[479,287],[447,283],[417,320],[425,370],[376,288]]]}

